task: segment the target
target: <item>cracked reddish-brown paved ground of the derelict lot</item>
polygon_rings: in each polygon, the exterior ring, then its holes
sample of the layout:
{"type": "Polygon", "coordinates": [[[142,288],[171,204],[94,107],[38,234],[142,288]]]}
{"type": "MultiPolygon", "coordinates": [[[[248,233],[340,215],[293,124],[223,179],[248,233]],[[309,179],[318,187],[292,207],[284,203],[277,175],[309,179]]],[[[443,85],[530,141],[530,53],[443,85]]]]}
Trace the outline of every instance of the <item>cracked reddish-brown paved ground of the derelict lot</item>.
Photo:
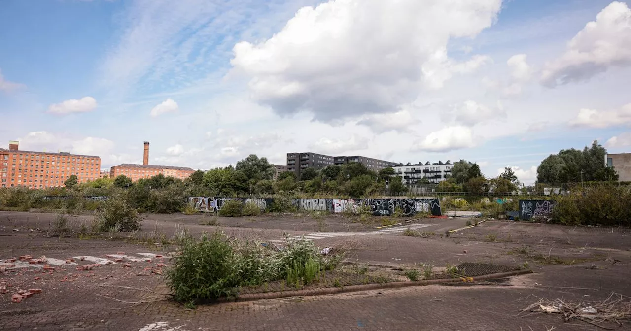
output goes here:
{"type": "MultiPolygon", "coordinates": [[[[326,247],[352,243],[350,259],[374,264],[493,262],[521,265],[528,262],[535,274],[473,286],[406,287],[332,296],[309,296],[201,306],[184,310],[170,302],[129,305],[121,301],[151,301],[151,291],[117,287],[161,288],[166,253],[174,247],[135,245],[122,240],[45,238],[54,214],[0,212],[0,259],[30,254],[65,260],[90,256],[112,260],[92,270],[58,265],[54,270],[29,265],[20,272],[0,274],[9,292],[0,294],[3,330],[602,330],[587,323],[565,323],[555,315],[517,316],[538,297],[596,301],[612,291],[631,293],[631,241],[626,229],[572,228],[550,224],[488,221],[444,238],[445,229],[458,228],[466,219],[422,219],[403,226],[374,229],[352,225],[346,219],[329,231],[312,228],[319,220],[285,216],[274,225],[259,221],[208,216],[150,215],[144,230],[174,236],[186,227],[201,231],[222,229],[230,235],[278,240],[283,235],[310,237],[326,247]],[[245,226],[250,222],[251,226],[245,226]],[[350,226],[356,226],[351,229],[350,226]],[[307,224],[301,227],[300,224],[307,224]],[[230,225],[230,226],[227,226],[230,225]],[[428,238],[403,236],[406,228],[425,231],[428,238]],[[156,258],[150,253],[164,255],[156,258]],[[109,256],[108,256],[109,255],[109,256]],[[118,255],[124,255],[117,261],[118,255]],[[151,258],[151,262],[146,261],[151,258]],[[123,267],[129,264],[129,267],[123,267]],[[42,288],[22,303],[11,303],[20,288],[42,288]],[[144,295],[144,297],[143,297],[144,295]],[[110,298],[106,298],[109,296],[110,298]]],[[[74,226],[90,216],[73,218],[74,226]]],[[[326,219],[327,224],[334,219],[326,219]]],[[[320,221],[322,223],[322,221],[320,221]]],[[[623,325],[615,330],[628,330],[623,325]]]]}

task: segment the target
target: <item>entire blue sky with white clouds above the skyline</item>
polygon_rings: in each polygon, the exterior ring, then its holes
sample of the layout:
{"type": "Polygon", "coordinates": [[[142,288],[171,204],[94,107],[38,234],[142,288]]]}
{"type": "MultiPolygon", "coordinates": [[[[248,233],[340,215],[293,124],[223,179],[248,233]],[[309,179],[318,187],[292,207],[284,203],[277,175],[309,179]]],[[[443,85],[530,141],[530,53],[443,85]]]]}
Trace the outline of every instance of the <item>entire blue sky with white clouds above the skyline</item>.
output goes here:
{"type": "MultiPolygon", "coordinates": [[[[207,170],[631,149],[630,1],[4,0],[0,148],[207,170]]],[[[604,161],[604,160],[603,160],[604,161]]]]}

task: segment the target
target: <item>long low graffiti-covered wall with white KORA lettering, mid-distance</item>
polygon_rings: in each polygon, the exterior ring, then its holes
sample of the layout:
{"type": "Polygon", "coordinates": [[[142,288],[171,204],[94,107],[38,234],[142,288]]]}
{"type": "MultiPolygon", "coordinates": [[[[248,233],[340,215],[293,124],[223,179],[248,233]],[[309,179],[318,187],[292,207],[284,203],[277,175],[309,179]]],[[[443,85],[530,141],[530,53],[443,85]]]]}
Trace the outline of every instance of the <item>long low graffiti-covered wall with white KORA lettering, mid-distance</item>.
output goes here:
{"type": "MultiPolygon", "coordinates": [[[[220,211],[226,200],[253,202],[262,211],[272,205],[274,199],[223,198],[223,197],[189,197],[189,204],[198,211],[220,211]]],[[[399,209],[404,216],[412,216],[418,212],[429,212],[440,216],[439,199],[293,199],[293,205],[300,211],[358,212],[368,208],[373,215],[392,215],[399,209]]]]}

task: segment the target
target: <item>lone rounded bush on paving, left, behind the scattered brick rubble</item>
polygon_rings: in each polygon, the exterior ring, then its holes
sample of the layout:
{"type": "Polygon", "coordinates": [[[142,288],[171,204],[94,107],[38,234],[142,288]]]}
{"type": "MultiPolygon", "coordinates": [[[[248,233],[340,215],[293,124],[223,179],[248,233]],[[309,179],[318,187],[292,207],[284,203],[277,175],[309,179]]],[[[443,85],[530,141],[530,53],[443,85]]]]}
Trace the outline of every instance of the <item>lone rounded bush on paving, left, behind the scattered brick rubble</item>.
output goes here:
{"type": "Polygon", "coordinates": [[[103,202],[103,206],[97,211],[97,220],[100,232],[111,229],[136,231],[140,228],[140,218],[136,209],[129,206],[121,197],[112,197],[103,202]]]}

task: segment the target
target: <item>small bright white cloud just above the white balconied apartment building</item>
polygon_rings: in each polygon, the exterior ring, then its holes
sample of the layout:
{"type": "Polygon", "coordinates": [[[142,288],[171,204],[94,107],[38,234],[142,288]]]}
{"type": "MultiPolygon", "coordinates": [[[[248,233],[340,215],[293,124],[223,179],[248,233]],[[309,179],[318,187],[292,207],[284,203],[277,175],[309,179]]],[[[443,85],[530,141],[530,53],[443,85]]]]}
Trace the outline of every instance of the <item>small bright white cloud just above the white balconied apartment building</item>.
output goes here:
{"type": "Polygon", "coordinates": [[[428,134],[425,139],[416,142],[412,151],[447,152],[473,146],[473,131],[469,127],[453,126],[428,134]]]}

